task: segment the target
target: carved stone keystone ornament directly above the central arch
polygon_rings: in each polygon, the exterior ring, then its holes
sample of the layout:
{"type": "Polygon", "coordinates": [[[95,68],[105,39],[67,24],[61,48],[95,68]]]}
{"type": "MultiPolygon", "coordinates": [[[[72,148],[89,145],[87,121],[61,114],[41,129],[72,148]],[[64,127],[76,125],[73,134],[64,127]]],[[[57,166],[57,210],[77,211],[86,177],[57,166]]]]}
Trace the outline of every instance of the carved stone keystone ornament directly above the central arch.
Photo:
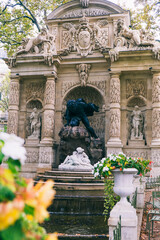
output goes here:
{"type": "Polygon", "coordinates": [[[87,85],[87,80],[88,80],[88,75],[89,75],[89,70],[91,69],[91,64],[79,64],[76,66],[76,69],[79,73],[79,79],[81,86],[86,86],[87,85]]]}

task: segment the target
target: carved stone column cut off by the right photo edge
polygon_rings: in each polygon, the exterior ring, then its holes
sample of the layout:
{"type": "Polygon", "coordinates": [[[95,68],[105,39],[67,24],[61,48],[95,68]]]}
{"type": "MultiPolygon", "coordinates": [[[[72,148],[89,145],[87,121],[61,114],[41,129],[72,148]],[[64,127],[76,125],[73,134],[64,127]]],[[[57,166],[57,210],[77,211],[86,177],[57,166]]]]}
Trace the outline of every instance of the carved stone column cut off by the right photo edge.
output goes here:
{"type": "Polygon", "coordinates": [[[160,71],[153,71],[152,78],[152,176],[160,171],[160,71]]]}

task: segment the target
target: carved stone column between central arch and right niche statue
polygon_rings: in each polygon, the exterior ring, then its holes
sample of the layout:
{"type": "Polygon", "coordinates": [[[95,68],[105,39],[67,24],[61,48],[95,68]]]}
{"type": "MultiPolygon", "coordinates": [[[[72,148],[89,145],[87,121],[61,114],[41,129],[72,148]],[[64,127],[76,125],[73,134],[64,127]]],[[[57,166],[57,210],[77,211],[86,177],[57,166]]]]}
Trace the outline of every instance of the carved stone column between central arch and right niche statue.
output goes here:
{"type": "Polygon", "coordinates": [[[110,125],[109,141],[107,142],[107,155],[122,152],[120,140],[121,111],[120,111],[120,73],[110,74],[110,125]]]}

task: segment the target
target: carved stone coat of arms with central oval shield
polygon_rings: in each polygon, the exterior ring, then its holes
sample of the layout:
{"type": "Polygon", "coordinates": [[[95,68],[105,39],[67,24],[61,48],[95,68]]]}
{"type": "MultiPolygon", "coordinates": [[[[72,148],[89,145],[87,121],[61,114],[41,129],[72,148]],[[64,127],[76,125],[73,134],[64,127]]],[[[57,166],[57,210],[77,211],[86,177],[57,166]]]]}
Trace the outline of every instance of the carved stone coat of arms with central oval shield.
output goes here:
{"type": "MultiPolygon", "coordinates": [[[[72,23],[64,23],[62,25],[63,28],[68,30],[68,32],[64,32],[63,35],[63,45],[66,51],[64,53],[67,53],[67,51],[77,51],[82,57],[86,57],[92,54],[92,50],[95,49],[97,42],[99,45],[102,45],[104,29],[101,30],[100,27],[106,26],[108,22],[101,20],[98,21],[97,24],[94,24],[94,26],[91,26],[85,16],[83,16],[79,22],[78,25],[72,23]]],[[[105,35],[105,45],[107,45],[106,42],[108,42],[108,32],[107,35],[105,35]]]]}

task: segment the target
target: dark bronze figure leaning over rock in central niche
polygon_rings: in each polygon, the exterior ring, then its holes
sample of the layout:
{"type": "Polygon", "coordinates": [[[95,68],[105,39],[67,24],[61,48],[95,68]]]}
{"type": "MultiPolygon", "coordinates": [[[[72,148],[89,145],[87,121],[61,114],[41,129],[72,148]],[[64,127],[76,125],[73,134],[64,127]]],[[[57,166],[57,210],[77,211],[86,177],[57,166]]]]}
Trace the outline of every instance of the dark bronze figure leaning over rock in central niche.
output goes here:
{"type": "Polygon", "coordinates": [[[94,103],[86,103],[82,98],[78,98],[77,100],[69,100],[67,102],[67,110],[65,113],[67,126],[79,126],[80,121],[82,121],[91,136],[98,138],[94,129],[90,126],[87,118],[87,116],[93,116],[93,113],[98,111],[98,106],[96,106],[94,103]]]}

